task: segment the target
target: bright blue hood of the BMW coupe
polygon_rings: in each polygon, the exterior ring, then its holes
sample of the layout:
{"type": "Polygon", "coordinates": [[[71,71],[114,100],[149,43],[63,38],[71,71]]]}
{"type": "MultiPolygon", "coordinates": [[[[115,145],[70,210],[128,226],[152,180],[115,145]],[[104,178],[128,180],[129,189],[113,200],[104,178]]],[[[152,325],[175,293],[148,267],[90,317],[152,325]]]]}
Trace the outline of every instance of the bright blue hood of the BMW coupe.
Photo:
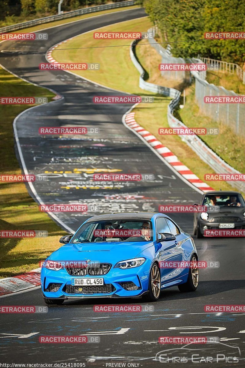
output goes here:
{"type": "Polygon", "coordinates": [[[65,244],[53,252],[52,261],[119,262],[135,258],[140,252],[153,245],[149,241],[112,241],[82,244],[65,244]]]}

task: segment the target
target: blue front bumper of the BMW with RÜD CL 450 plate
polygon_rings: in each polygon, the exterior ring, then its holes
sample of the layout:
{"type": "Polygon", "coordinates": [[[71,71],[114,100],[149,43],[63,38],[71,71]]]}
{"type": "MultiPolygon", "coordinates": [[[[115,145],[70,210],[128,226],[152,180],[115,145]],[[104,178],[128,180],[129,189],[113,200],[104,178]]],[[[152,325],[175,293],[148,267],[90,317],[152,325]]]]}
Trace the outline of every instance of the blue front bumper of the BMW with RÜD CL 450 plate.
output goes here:
{"type": "Polygon", "coordinates": [[[49,299],[73,299],[73,298],[133,298],[140,297],[148,292],[149,285],[149,270],[151,262],[149,260],[145,261],[142,266],[131,268],[131,269],[120,269],[111,268],[106,275],[100,276],[71,276],[66,271],[66,269],[61,269],[59,271],[49,270],[42,267],[41,271],[41,287],[42,294],[45,298],[49,299]],[[104,279],[104,289],[103,292],[93,292],[91,290],[98,290],[99,287],[72,287],[72,279],[75,278],[103,278],[104,279]],[[133,282],[137,290],[126,290],[120,283],[133,282]],[[48,291],[47,288],[50,284],[60,284],[57,291],[48,291]],[[110,286],[109,286],[110,285],[110,286]],[[85,293],[78,291],[78,289],[86,290],[85,293]],[[104,292],[110,289],[110,292],[104,292]]]}

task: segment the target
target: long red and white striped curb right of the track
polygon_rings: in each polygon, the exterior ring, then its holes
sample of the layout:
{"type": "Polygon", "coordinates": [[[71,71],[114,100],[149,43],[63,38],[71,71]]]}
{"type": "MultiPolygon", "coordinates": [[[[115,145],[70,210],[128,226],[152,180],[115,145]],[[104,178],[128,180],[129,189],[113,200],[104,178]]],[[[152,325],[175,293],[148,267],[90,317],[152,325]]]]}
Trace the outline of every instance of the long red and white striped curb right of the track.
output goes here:
{"type": "Polygon", "coordinates": [[[125,117],[125,123],[133,130],[135,130],[138,134],[144,138],[145,141],[149,145],[152,146],[172,167],[174,170],[178,171],[185,180],[189,181],[192,185],[197,187],[199,190],[203,192],[212,191],[213,188],[209,187],[207,183],[204,183],[201,179],[198,178],[197,175],[192,173],[187,166],[181,163],[177,156],[174,155],[173,152],[170,151],[166,146],[164,146],[161,142],[159,142],[154,135],[150,132],[142,128],[138,123],[136,123],[134,119],[134,112],[130,112],[125,117]]]}

